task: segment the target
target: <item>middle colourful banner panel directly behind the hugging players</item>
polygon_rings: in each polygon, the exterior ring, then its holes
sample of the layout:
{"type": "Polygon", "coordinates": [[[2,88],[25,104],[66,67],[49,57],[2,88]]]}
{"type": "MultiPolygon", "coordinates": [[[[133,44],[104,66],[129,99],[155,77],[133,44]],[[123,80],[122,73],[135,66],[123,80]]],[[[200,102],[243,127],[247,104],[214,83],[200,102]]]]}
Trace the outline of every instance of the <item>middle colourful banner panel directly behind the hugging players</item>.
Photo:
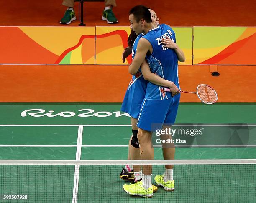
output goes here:
{"type": "MultiPolygon", "coordinates": [[[[182,65],[192,65],[192,27],[174,27],[176,41],[184,51],[186,61],[182,65]]],[[[121,54],[127,47],[127,38],[131,33],[129,27],[96,27],[96,61],[95,64],[122,65],[131,63],[131,55],[125,63],[121,54]]]]}

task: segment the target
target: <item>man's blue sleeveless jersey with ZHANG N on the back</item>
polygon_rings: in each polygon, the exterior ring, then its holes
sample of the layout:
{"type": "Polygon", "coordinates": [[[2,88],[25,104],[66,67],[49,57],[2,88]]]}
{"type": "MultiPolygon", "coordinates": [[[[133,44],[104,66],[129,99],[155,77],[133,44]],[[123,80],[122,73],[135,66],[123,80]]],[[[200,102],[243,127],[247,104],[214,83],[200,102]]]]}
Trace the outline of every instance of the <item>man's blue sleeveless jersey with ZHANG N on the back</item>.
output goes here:
{"type": "MultiPolygon", "coordinates": [[[[179,88],[178,58],[173,49],[164,48],[161,43],[166,36],[176,43],[175,33],[169,25],[161,24],[143,36],[151,43],[153,52],[146,55],[146,60],[152,73],[172,81],[179,88]]],[[[170,92],[163,92],[162,86],[148,83],[145,98],[148,100],[164,100],[171,98],[170,92]]]]}

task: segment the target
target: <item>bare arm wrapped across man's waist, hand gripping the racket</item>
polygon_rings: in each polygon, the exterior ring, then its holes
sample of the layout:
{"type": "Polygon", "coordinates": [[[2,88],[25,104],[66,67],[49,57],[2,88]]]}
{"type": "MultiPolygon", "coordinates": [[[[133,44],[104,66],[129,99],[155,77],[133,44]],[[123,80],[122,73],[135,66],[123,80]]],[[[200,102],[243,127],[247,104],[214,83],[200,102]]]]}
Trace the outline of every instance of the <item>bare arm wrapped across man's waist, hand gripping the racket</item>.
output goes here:
{"type": "Polygon", "coordinates": [[[170,90],[172,91],[172,96],[175,96],[178,93],[180,93],[179,89],[172,81],[165,80],[160,76],[152,73],[149,69],[146,60],[144,60],[143,63],[141,64],[141,72],[145,80],[148,80],[149,82],[154,83],[155,85],[161,85],[163,87],[170,88],[170,90]]]}

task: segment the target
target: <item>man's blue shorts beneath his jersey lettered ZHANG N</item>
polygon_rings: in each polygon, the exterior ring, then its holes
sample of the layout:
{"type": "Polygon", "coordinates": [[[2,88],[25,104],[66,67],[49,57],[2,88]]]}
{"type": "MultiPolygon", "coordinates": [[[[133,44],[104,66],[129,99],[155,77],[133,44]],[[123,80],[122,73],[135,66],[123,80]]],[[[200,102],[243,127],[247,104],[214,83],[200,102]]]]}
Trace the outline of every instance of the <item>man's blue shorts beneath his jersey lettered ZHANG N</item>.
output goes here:
{"type": "Polygon", "coordinates": [[[161,129],[163,123],[174,125],[179,106],[180,94],[166,100],[144,99],[137,126],[143,130],[161,129]]]}

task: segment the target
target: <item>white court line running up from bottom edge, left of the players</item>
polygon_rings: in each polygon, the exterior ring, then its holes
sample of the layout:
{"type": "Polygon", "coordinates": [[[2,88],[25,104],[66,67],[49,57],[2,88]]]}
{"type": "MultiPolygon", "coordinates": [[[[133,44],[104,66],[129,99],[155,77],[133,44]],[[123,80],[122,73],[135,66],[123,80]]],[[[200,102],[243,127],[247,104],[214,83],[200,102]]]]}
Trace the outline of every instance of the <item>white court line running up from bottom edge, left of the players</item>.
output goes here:
{"type": "MultiPolygon", "coordinates": [[[[81,149],[82,149],[82,137],[83,137],[83,126],[78,126],[78,134],[77,134],[77,153],[76,160],[81,160],[81,149]]],[[[72,203],[77,203],[77,195],[78,195],[78,185],[79,185],[79,171],[80,165],[75,165],[74,171],[74,186],[73,186],[73,195],[72,195],[72,203]]]]}

